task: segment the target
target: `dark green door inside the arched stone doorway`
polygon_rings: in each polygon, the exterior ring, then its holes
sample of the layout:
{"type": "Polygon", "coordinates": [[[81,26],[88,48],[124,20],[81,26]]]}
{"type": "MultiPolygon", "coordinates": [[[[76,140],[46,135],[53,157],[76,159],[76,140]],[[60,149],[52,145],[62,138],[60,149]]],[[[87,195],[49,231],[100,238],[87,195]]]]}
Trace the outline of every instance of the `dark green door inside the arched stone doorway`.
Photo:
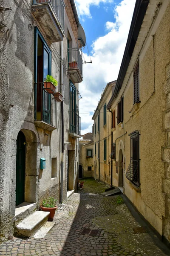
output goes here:
{"type": "Polygon", "coordinates": [[[17,137],[17,163],[16,163],[16,205],[24,202],[25,192],[25,161],[26,137],[19,131],[17,137]]]}

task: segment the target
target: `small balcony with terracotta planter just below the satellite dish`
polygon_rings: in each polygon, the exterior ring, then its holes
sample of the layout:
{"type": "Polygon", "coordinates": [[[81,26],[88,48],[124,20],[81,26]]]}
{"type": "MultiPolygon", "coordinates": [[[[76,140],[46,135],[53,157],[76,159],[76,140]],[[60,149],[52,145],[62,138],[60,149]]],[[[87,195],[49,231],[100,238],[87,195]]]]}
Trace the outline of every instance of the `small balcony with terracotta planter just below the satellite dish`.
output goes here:
{"type": "Polygon", "coordinates": [[[82,82],[82,57],[78,48],[68,49],[68,72],[74,83],[82,82]]]}

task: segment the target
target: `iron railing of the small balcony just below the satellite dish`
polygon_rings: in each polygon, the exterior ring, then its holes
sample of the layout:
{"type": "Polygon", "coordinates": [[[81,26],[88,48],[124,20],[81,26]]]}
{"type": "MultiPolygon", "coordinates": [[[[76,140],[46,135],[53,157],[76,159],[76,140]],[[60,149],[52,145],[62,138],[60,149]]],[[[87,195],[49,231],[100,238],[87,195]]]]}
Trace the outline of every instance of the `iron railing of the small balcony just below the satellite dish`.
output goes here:
{"type": "Polygon", "coordinates": [[[82,57],[79,48],[68,48],[68,69],[79,69],[82,76],[82,57]]]}

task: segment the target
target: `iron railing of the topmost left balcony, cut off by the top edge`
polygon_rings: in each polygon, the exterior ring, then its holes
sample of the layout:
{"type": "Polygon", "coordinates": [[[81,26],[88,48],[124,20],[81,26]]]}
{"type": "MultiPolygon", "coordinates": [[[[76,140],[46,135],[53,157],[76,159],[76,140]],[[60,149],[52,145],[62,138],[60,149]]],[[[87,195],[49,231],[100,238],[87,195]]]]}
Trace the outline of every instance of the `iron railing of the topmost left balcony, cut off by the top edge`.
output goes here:
{"type": "Polygon", "coordinates": [[[53,9],[58,24],[64,33],[65,3],[63,0],[33,0],[33,5],[48,3],[53,9]]]}

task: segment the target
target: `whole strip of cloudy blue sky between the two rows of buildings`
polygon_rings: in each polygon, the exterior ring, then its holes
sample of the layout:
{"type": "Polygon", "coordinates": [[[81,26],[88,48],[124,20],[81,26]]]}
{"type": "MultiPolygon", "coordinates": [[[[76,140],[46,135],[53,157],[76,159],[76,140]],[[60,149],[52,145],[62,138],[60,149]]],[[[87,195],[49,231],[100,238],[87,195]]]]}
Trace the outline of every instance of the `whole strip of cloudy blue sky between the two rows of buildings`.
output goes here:
{"type": "MultiPolygon", "coordinates": [[[[92,64],[83,64],[79,84],[81,134],[92,132],[91,119],[103,88],[117,79],[135,6],[135,0],[75,0],[91,52],[92,64]]],[[[87,47],[85,61],[90,61],[87,47]]]]}

